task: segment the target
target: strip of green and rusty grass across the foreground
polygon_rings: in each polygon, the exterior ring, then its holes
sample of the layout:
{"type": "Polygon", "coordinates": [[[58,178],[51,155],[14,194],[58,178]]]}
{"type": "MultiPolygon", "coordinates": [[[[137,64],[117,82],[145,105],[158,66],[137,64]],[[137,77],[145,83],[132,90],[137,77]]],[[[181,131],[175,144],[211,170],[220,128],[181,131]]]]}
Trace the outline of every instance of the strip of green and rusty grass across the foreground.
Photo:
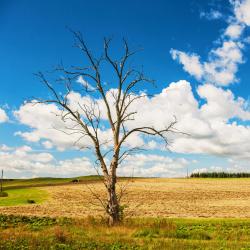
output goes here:
{"type": "Polygon", "coordinates": [[[0,249],[249,249],[249,219],[106,221],[0,215],[0,249]]]}

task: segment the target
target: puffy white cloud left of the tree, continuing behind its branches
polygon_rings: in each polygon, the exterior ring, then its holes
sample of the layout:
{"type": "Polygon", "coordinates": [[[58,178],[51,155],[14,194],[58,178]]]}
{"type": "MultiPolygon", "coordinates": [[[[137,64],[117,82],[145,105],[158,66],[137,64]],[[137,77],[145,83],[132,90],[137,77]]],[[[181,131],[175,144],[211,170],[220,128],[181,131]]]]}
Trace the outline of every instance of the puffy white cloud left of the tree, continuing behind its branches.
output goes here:
{"type": "MultiPolygon", "coordinates": [[[[108,93],[108,95],[110,99],[110,93],[108,93]]],[[[84,119],[84,113],[78,103],[80,103],[81,106],[84,104],[90,105],[93,103],[93,100],[90,97],[82,97],[76,92],[71,92],[68,98],[70,102],[69,105],[71,105],[72,109],[78,110],[84,119]]],[[[104,120],[107,119],[105,105],[101,100],[96,100],[96,102],[99,103],[101,118],[104,120]]],[[[114,109],[112,109],[112,113],[115,113],[114,109]]],[[[60,151],[69,148],[79,149],[93,146],[89,137],[68,129],[72,127],[76,129],[75,122],[70,119],[67,119],[65,122],[62,121],[62,110],[54,104],[33,105],[32,103],[25,103],[19,110],[14,111],[14,115],[21,124],[28,125],[30,128],[30,131],[17,131],[15,135],[21,136],[28,142],[41,142],[47,149],[54,146],[60,151]]],[[[89,130],[92,131],[92,128],[89,127],[89,130]]],[[[100,128],[98,134],[100,144],[103,144],[103,147],[112,146],[112,140],[110,139],[112,138],[112,131],[110,128],[100,128]]],[[[143,140],[138,135],[134,134],[126,143],[130,147],[137,147],[143,145],[143,140]]],[[[152,145],[151,143],[151,147],[152,145]]]]}

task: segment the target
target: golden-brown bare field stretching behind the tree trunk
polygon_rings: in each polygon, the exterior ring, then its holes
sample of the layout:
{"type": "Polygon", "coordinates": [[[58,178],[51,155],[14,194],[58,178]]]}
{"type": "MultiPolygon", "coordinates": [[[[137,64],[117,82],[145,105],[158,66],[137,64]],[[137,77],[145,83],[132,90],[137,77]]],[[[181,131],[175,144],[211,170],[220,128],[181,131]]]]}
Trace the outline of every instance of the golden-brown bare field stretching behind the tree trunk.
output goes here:
{"type": "MultiPolygon", "coordinates": [[[[53,217],[103,215],[102,207],[90,191],[104,195],[102,183],[39,189],[49,193],[46,202],[0,207],[0,213],[53,217]]],[[[250,179],[136,179],[128,185],[122,201],[128,216],[250,218],[250,179]]]]}

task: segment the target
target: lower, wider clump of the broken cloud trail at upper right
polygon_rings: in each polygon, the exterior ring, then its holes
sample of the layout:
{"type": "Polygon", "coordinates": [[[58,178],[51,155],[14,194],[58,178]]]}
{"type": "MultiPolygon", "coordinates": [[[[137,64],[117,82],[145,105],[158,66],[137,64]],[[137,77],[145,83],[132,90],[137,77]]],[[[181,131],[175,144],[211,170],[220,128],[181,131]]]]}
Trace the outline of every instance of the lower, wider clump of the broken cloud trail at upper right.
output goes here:
{"type": "Polygon", "coordinates": [[[238,65],[243,63],[243,44],[235,41],[224,41],[221,47],[210,51],[208,60],[201,62],[200,57],[175,49],[170,53],[174,60],[183,65],[183,69],[199,81],[220,86],[236,82],[238,65]]]}

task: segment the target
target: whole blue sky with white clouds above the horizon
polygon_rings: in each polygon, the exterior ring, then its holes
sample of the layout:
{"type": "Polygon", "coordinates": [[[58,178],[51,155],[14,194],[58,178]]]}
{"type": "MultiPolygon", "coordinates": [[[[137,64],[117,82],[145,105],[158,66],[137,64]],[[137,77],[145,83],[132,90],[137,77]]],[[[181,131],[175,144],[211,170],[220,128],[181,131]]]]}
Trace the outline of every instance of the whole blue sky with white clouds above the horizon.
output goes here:
{"type": "MultiPolygon", "coordinates": [[[[63,126],[58,107],[26,102],[49,96],[34,73],[86,63],[70,28],[97,55],[104,37],[112,38],[116,57],[122,38],[143,48],[133,63],[156,87],[142,87],[153,97],[135,103],[138,115],[128,127],[161,128],[176,116],[178,130],[188,134],[169,135],[168,150],[136,135],[127,146],[147,151],[128,157],[119,175],[249,172],[249,26],[250,0],[0,1],[0,168],[8,178],[95,174],[93,153],[54,129],[63,126]]],[[[104,75],[114,88],[112,72],[104,75]]],[[[76,92],[70,98],[86,101],[76,92]]],[[[110,137],[107,128],[101,133],[110,137]]]]}

